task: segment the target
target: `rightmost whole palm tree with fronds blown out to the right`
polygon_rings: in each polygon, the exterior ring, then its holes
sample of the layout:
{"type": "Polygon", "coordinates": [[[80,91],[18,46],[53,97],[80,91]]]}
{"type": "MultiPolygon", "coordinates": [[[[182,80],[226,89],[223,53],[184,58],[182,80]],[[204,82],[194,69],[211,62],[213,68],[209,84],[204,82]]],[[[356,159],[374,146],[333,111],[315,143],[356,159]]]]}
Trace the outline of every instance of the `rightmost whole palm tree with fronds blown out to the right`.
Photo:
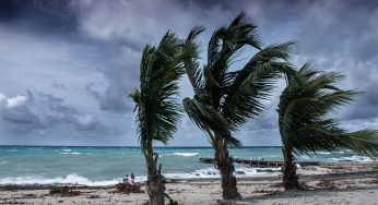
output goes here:
{"type": "Polygon", "coordinates": [[[306,63],[287,79],[279,104],[279,124],[283,144],[285,190],[298,189],[293,154],[316,155],[318,150],[349,148],[358,154],[378,152],[378,132],[361,130],[346,132],[330,113],[353,101],[356,92],[340,89],[344,76],[321,72],[306,63]]]}

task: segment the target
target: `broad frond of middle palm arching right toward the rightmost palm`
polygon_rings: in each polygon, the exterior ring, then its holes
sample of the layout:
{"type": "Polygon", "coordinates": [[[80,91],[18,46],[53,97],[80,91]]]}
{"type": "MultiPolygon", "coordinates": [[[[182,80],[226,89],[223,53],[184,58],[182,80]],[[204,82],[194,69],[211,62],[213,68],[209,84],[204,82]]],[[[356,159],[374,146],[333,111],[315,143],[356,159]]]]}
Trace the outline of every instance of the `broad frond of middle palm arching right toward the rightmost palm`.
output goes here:
{"type": "Polygon", "coordinates": [[[293,75],[294,68],[285,61],[293,45],[285,43],[262,49],[237,73],[223,106],[223,113],[232,122],[233,129],[264,110],[261,100],[269,99],[275,80],[282,73],[293,75]]]}

